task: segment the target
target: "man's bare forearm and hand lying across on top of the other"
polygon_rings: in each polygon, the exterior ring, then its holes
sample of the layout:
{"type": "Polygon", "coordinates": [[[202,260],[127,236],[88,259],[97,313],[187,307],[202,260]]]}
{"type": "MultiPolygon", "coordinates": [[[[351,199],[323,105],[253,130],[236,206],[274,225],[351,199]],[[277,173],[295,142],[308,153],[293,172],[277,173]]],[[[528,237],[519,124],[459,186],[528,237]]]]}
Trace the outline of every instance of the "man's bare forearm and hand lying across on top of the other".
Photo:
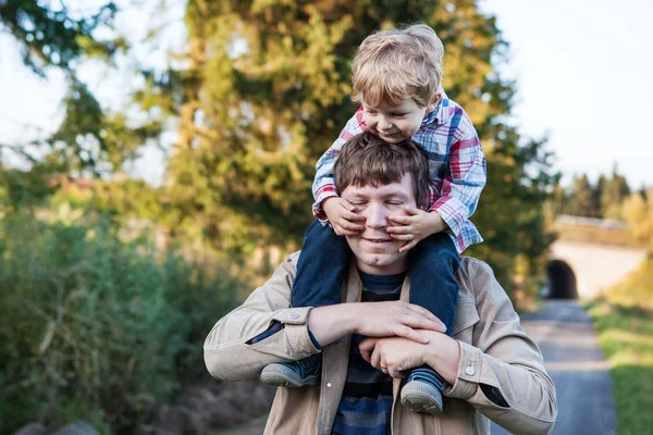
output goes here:
{"type": "Polygon", "coordinates": [[[440,319],[426,308],[399,300],[317,307],[308,313],[308,328],[322,347],[352,333],[428,343],[423,331],[446,331],[440,319]]]}

